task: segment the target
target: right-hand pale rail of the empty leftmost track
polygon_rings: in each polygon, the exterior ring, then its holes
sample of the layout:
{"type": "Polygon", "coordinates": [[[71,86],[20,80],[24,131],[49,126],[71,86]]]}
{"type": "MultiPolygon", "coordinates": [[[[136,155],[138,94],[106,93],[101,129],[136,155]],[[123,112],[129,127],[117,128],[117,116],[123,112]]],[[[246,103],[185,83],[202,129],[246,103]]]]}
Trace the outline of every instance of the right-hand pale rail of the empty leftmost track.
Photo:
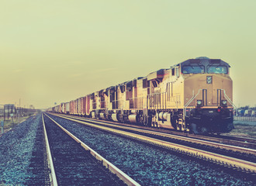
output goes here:
{"type": "MultiPolygon", "coordinates": [[[[45,114],[47,115],[47,114],[45,114]]],[[[49,115],[47,115],[49,119],[51,119],[57,126],[59,126],[62,130],[64,130],[65,133],[68,134],[68,136],[71,136],[72,139],[74,139],[77,143],[80,143],[80,145],[85,149],[88,150],[93,157],[95,157],[97,160],[102,162],[102,165],[109,169],[113,174],[116,174],[117,177],[119,177],[121,180],[123,180],[124,183],[130,186],[139,186],[136,181],[134,181],[131,177],[129,177],[127,174],[125,174],[123,171],[119,170],[118,167],[111,164],[108,160],[106,160],[104,157],[99,155],[95,150],[92,150],[91,147],[83,143],[81,140],[79,140],[76,136],[74,136],[72,133],[70,133],[67,129],[65,129],[63,126],[61,126],[59,123],[57,123],[54,119],[50,118],[49,115]]]]}

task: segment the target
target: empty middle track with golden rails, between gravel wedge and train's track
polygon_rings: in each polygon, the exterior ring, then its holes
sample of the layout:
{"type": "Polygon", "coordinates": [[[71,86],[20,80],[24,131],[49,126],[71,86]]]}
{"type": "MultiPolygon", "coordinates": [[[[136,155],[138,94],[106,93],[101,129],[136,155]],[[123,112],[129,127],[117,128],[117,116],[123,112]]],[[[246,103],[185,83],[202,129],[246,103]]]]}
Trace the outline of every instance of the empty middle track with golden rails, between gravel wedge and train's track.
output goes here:
{"type": "MultiPolygon", "coordinates": [[[[171,134],[164,134],[164,138],[157,139],[155,136],[159,136],[160,134],[157,134],[159,132],[150,131],[148,129],[132,129],[131,127],[129,129],[125,128],[125,126],[119,126],[119,129],[117,129],[116,125],[112,125],[110,123],[106,123],[105,121],[88,121],[88,119],[81,119],[81,118],[75,118],[71,116],[63,116],[58,115],[61,118],[69,119],[74,122],[79,122],[81,124],[85,124],[87,126],[92,126],[97,129],[102,129],[109,131],[111,133],[116,133],[121,136],[126,136],[129,138],[133,138],[134,140],[140,140],[146,143],[150,143],[153,145],[161,146],[166,149],[170,149],[179,153],[184,153],[186,155],[189,155],[191,157],[197,157],[202,160],[209,160],[215,164],[222,164],[225,167],[230,167],[232,169],[236,169],[238,171],[245,171],[248,174],[255,175],[256,173],[256,164],[255,164],[255,154],[256,150],[248,149],[240,146],[230,146],[226,144],[221,143],[213,143],[206,140],[198,140],[198,139],[192,139],[191,137],[186,137],[184,139],[184,136],[171,136],[171,134]],[[109,128],[111,126],[111,128],[109,128]],[[134,132],[137,131],[137,132],[134,132]],[[139,132],[138,132],[139,131],[139,132]],[[141,133],[144,133],[144,135],[141,135],[141,133]],[[150,135],[145,136],[145,133],[150,133],[150,135]],[[193,146],[186,146],[184,144],[177,144],[177,143],[171,143],[170,141],[166,139],[176,139],[179,138],[178,141],[186,141],[189,140],[189,143],[193,141],[192,143],[197,143],[196,147],[193,146]],[[181,138],[183,138],[181,140],[181,138]],[[207,143],[207,144],[206,144],[207,143]],[[210,148],[216,148],[216,149],[223,149],[226,150],[226,155],[211,152],[213,150],[202,150],[199,149],[199,146],[210,146],[210,148]],[[231,153],[230,153],[231,152],[231,153]],[[234,153],[240,153],[238,157],[232,157],[230,154],[233,155],[234,153]],[[244,154],[244,155],[243,155],[244,154]],[[250,158],[252,161],[250,161],[250,158]],[[243,159],[249,159],[249,160],[243,160],[243,159]]],[[[163,136],[163,133],[161,133],[161,136],[163,136]]],[[[176,140],[177,141],[177,140],[176,140]]]]}

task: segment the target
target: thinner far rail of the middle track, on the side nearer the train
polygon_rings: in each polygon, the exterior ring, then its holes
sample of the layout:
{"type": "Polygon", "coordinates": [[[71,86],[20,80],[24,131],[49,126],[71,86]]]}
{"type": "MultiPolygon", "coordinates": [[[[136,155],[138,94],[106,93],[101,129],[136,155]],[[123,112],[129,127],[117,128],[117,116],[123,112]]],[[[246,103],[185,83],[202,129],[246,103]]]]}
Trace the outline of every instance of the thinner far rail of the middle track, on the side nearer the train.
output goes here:
{"type": "MultiPolygon", "coordinates": [[[[65,116],[60,116],[60,117],[71,118],[71,117],[65,117],[65,116]]],[[[82,119],[82,120],[85,120],[85,119],[82,119]]],[[[94,121],[94,122],[99,123],[100,125],[118,127],[119,129],[129,129],[129,130],[136,131],[136,132],[139,132],[139,133],[147,133],[147,134],[156,135],[156,136],[164,136],[164,137],[174,139],[174,140],[189,141],[191,143],[213,146],[213,147],[216,147],[216,148],[222,148],[222,149],[225,149],[225,150],[232,150],[232,151],[235,151],[235,152],[247,153],[247,154],[251,154],[251,155],[256,156],[256,150],[248,149],[248,148],[244,148],[244,147],[240,147],[240,146],[233,146],[233,145],[227,145],[227,144],[222,144],[222,143],[215,143],[215,142],[210,142],[210,141],[206,141],[206,140],[198,140],[198,139],[193,139],[193,138],[187,137],[187,136],[177,136],[177,135],[168,134],[168,133],[160,133],[160,132],[156,132],[156,131],[152,131],[152,130],[135,129],[135,128],[127,127],[127,126],[116,126],[115,124],[109,124],[109,123],[106,124],[104,122],[99,122],[99,121],[94,121]]]]}

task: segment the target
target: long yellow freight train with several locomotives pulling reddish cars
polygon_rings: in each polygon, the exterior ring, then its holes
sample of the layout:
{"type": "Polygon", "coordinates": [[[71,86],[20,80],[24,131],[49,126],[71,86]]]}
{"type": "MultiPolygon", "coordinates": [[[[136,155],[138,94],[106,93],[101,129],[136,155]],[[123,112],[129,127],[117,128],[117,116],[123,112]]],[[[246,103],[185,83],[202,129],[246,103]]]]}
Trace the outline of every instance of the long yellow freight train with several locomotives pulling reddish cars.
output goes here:
{"type": "Polygon", "coordinates": [[[190,133],[229,133],[234,129],[232,91],[230,65],[198,57],[48,111],[190,133]]]}

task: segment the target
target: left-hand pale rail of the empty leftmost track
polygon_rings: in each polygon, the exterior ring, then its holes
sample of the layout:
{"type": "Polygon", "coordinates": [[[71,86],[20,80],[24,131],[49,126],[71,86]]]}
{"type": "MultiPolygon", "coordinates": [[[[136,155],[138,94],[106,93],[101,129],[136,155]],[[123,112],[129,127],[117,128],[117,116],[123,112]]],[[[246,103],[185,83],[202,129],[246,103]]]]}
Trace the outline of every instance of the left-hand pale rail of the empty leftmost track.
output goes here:
{"type": "MultiPolygon", "coordinates": [[[[42,119],[43,119],[43,113],[42,113],[42,119]]],[[[50,185],[57,186],[57,177],[55,174],[55,169],[54,169],[54,161],[50,153],[50,145],[48,141],[48,136],[47,136],[47,130],[45,128],[44,124],[44,119],[43,119],[43,133],[44,133],[44,140],[45,140],[45,145],[47,149],[47,162],[48,162],[48,168],[50,169],[50,185]]]]}

